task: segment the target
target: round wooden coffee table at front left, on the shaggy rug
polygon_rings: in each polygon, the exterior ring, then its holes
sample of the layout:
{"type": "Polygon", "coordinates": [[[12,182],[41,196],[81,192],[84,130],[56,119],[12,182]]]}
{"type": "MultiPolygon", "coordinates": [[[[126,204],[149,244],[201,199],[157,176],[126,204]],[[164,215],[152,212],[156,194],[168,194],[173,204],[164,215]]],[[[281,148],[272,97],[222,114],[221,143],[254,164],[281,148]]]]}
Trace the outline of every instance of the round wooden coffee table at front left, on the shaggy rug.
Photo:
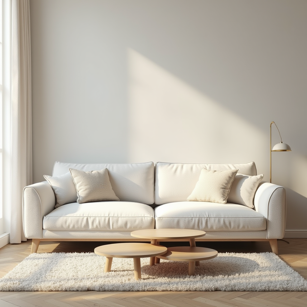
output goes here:
{"type": "Polygon", "coordinates": [[[98,246],[94,253],[107,257],[105,272],[111,271],[113,258],[133,258],[134,278],[141,279],[141,259],[155,257],[167,252],[164,246],[157,246],[149,243],[115,243],[98,246]]]}

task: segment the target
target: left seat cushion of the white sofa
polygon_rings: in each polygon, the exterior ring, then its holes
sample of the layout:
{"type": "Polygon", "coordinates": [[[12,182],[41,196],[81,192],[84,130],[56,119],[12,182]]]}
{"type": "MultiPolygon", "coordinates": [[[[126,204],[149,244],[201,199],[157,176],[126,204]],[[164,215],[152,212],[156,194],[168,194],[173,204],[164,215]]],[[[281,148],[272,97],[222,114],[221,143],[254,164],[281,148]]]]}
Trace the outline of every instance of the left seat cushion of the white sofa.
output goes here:
{"type": "Polygon", "coordinates": [[[127,201],[72,203],[44,217],[47,230],[139,230],[154,228],[153,208],[127,201]]]}

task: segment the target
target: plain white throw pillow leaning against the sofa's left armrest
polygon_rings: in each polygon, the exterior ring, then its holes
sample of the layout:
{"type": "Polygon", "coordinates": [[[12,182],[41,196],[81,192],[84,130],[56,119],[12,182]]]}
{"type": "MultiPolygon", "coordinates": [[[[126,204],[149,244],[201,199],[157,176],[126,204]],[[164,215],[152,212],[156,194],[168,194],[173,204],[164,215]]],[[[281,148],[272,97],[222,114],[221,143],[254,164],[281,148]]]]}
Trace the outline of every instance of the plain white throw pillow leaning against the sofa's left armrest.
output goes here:
{"type": "Polygon", "coordinates": [[[77,191],[70,172],[61,176],[44,175],[45,179],[51,185],[56,195],[56,206],[75,203],[77,201],[77,191]]]}

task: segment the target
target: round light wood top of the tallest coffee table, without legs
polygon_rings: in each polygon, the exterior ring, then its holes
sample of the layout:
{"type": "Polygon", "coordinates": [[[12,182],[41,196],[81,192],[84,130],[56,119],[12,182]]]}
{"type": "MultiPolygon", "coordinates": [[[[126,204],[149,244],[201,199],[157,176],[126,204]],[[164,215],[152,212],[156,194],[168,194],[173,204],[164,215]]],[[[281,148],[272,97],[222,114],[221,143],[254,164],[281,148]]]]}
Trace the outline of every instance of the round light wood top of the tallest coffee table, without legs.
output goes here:
{"type": "Polygon", "coordinates": [[[143,229],[131,231],[132,237],[156,240],[192,239],[202,237],[205,234],[206,232],[202,230],[177,228],[143,229]]]}

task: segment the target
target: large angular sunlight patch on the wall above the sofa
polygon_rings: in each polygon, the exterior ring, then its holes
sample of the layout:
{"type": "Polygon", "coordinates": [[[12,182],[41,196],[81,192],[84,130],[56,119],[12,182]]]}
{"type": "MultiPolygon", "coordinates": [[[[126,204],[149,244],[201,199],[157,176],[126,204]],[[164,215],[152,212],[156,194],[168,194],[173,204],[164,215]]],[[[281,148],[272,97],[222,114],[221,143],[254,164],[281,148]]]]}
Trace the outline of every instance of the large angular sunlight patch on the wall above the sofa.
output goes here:
{"type": "Polygon", "coordinates": [[[128,78],[129,161],[267,160],[265,135],[248,119],[133,49],[128,49],[128,78]]]}

